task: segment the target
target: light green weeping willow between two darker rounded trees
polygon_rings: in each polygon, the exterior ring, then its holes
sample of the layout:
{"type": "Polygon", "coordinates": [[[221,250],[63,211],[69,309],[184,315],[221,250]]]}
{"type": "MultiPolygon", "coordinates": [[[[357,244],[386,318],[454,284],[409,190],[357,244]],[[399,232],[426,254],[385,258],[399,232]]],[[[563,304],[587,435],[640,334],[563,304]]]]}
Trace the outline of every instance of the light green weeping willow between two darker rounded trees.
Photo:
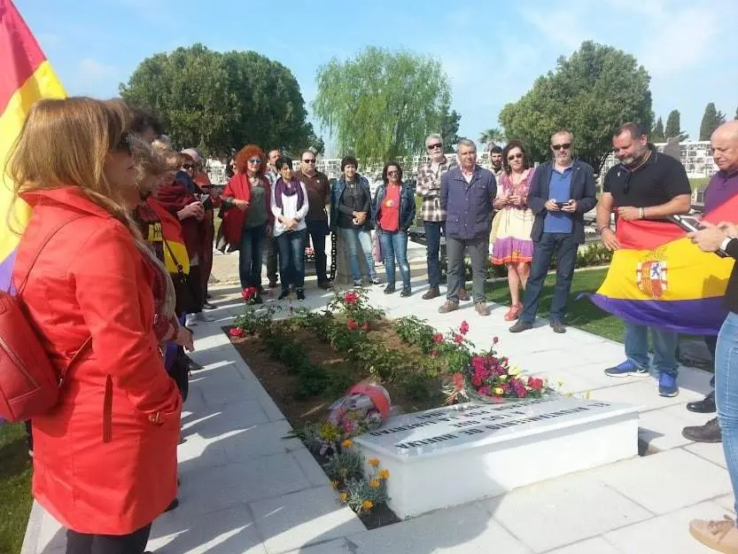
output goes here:
{"type": "Polygon", "coordinates": [[[336,137],[338,152],[392,160],[423,152],[450,105],[438,61],[407,51],[368,47],[353,59],[331,59],[315,77],[313,111],[336,137]]]}

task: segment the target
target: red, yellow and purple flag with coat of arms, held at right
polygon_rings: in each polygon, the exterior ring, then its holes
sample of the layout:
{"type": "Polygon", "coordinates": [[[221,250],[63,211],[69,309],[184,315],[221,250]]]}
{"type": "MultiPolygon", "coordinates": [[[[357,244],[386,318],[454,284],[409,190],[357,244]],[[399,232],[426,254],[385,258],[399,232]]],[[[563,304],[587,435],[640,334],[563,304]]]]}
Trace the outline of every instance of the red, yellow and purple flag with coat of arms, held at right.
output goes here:
{"type": "MultiPolygon", "coordinates": [[[[738,196],[704,221],[738,221],[738,196]]],[[[597,306],[633,324],[694,335],[717,335],[726,318],[723,296],[732,258],[701,251],[672,222],[618,221],[620,248],[600,289],[597,306]]]]}

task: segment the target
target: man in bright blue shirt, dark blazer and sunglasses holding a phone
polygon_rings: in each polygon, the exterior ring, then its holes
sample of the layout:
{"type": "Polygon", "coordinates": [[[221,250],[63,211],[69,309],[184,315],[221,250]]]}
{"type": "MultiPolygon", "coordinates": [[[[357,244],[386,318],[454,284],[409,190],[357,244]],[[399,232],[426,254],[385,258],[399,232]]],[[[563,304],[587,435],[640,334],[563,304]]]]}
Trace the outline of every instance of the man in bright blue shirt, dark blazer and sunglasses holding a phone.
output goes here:
{"type": "Polygon", "coordinates": [[[554,160],[536,169],[528,192],[528,206],[535,215],[531,238],[533,261],[531,276],[525,285],[524,309],[510,332],[531,329],[535,320],[543,281],[551,258],[556,254],[556,285],[551,301],[549,324],[554,332],[566,332],[563,316],[571,290],[571,277],[577,261],[577,249],[584,243],[584,215],[597,204],[592,168],[572,160],[574,136],[561,129],[551,136],[554,160]]]}

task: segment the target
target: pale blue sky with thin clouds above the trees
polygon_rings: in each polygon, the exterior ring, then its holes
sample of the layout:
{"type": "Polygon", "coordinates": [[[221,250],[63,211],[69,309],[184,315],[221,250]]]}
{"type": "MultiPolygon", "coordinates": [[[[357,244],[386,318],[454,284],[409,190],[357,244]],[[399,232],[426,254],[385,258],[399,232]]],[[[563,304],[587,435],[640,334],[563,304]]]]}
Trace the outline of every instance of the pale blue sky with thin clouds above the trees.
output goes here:
{"type": "MultiPolygon", "coordinates": [[[[559,56],[594,40],[638,59],[656,117],[665,124],[678,109],[692,139],[708,102],[729,119],[738,107],[736,0],[14,1],[70,95],[111,98],[145,58],[203,43],[289,67],[310,113],[317,68],[374,45],[437,59],[462,114],[459,134],[478,139],[559,56]]],[[[328,132],[316,130],[330,151],[328,132]]]]}

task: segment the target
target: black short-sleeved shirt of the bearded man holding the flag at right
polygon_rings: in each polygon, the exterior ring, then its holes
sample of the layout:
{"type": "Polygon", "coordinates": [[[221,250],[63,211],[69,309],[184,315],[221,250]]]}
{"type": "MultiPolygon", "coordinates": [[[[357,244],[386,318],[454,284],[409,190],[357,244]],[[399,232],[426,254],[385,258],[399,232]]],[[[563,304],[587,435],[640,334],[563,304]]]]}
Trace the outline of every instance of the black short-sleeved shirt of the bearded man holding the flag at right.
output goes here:
{"type": "Polygon", "coordinates": [[[691,194],[687,171],[679,160],[662,152],[651,152],[649,160],[635,171],[617,165],[607,172],[603,192],[610,192],[615,206],[660,206],[680,194],[691,194]]]}

